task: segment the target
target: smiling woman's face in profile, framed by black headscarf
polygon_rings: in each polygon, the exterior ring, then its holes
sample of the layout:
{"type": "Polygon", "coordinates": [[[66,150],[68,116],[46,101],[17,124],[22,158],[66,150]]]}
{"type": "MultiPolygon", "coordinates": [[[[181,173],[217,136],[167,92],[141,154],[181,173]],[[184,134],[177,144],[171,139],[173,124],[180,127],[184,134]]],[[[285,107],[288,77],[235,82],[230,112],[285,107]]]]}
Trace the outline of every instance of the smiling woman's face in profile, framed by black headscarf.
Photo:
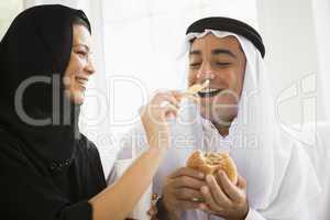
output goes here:
{"type": "Polygon", "coordinates": [[[95,73],[90,57],[91,36],[86,26],[80,24],[74,24],[73,35],[73,51],[63,82],[69,99],[76,105],[81,105],[88,78],[95,73]]]}

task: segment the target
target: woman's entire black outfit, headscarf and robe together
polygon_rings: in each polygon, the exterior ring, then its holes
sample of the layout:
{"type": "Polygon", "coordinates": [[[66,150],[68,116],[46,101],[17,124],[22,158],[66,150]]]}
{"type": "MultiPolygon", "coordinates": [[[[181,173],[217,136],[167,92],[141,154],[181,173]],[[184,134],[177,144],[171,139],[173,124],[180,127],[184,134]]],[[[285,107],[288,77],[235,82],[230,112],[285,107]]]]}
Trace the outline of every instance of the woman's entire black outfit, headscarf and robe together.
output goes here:
{"type": "Polygon", "coordinates": [[[77,130],[79,107],[62,78],[82,11],[41,6],[16,16],[0,43],[0,219],[90,220],[91,197],[106,188],[95,145],[77,130]],[[15,92],[26,79],[23,109],[15,92]],[[21,118],[46,119],[35,124],[21,118]]]}

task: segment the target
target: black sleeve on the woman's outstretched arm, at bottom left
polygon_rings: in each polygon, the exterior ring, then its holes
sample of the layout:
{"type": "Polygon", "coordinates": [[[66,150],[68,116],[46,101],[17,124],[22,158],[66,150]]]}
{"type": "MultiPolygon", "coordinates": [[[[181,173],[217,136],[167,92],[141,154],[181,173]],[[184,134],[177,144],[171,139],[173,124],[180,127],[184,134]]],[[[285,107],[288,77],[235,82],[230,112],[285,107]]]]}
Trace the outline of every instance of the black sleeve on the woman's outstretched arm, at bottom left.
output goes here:
{"type": "Polygon", "coordinates": [[[19,152],[0,143],[0,216],[18,220],[91,220],[86,200],[72,204],[19,152]]]}

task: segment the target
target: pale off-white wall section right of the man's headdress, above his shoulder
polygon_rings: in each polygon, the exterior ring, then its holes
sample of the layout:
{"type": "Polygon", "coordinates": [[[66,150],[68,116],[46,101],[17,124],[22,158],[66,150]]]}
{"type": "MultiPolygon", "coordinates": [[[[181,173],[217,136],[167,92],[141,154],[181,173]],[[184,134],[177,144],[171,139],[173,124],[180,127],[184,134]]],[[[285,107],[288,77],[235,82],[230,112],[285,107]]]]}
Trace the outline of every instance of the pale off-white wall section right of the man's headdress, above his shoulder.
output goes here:
{"type": "Polygon", "coordinates": [[[311,6],[311,0],[257,0],[278,121],[288,125],[324,119],[311,6]]]}

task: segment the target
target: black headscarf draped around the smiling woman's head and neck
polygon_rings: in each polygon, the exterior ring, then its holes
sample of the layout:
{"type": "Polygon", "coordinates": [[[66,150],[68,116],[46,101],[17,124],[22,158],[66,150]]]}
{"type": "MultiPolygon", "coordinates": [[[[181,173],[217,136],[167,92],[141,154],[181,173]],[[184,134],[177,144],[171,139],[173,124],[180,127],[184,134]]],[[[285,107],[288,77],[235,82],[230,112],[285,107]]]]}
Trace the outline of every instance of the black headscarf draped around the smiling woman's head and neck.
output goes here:
{"type": "MultiPolygon", "coordinates": [[[[18,140],[20,146],[12,147],[44,174],[70,164],[79,134],[79,107],[64,96],[62,80],[77,18],[90,32],[80,10],[57,4],[30,8],[15,18],[0,44],[1,130],[18,140]],[[26,122],[24,114],[41,123],[26,122]]],[[[3,132],[0,135],[0,142],[7,139],[3,132]]]]}

